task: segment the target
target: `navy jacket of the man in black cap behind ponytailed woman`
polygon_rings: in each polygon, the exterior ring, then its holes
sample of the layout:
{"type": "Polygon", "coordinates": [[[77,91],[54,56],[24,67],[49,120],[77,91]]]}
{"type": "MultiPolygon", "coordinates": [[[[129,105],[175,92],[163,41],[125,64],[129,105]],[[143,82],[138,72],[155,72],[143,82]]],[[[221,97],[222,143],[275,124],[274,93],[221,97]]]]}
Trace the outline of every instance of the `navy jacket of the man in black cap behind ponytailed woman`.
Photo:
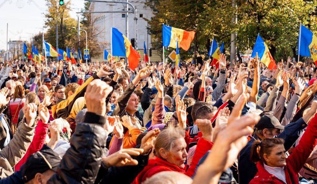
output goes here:
{"type": "MultiPolygon", "coordinates": [[[[296,122],[289,123],[285,126],[284,131],[277,136],[278,138],[282,138],[285,140],[285,150],[291,148],[291,146],[298,139],[300,131],[305,127],[307,127],[307,124],[304,122],[303,118],[300,118],[296,122]]],[[[256,175],[256,164],[250,160],[250,154],[252,143],[257,139],[260,138],[257,135],[253,135],[252,139],[239,153],[238,174],[240,184],[248,184],[256,175]]]]}

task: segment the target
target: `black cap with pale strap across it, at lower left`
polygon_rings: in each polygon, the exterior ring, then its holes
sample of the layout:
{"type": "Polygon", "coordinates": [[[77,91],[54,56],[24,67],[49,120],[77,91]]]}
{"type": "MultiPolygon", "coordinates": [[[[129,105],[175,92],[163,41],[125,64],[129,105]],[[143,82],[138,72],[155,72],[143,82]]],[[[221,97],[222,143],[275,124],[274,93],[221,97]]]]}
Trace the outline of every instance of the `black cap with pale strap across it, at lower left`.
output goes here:
{"type": "Polygon", "coordinates": [[[49,169],[56,172],[60,162],[61,156],[44,145],[40,151],[31,154],[21,167],[22,180],[28,182],[35,177],[36,173],[44,173],[49,169]]]}

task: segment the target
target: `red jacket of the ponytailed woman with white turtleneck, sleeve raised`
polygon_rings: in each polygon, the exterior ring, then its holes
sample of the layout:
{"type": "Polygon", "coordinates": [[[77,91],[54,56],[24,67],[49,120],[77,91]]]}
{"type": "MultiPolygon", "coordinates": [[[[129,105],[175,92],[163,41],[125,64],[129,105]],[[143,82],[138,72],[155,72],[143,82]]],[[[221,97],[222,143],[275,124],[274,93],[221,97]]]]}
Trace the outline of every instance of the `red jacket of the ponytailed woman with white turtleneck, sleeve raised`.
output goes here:
{"type": "MultiPolygon", "coordinates": [[[[317,114],[310,121],[307,126],[303,137],[299,144],[294,148],[292,154],[286,159],[285,176],[287,184],[298,184],[297,175],[301,168],[304,166],[310,153],[316,146],[317,138],[317,114]]],[[[283,181],[279,180],[273,174],[268,173],[261,162],[256,164],[258,172],[256,176],[250,181],[250,184],[255,183],[271,183],[271,184],[284,184],[283,181]]]]}

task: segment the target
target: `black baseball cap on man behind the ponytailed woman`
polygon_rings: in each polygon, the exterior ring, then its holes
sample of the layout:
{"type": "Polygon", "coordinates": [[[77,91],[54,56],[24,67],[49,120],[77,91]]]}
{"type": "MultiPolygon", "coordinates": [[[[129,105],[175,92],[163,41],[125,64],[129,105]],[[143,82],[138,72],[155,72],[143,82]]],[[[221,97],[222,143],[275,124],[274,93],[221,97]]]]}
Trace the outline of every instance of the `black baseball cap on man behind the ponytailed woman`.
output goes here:
{"type": "Polygon", "coordinates": [[[263,130],[264,128],[278,128],[284,130],[284,126],[273,115],[263,115],[260,121],[256,124],[256,130],[263,130]]]}

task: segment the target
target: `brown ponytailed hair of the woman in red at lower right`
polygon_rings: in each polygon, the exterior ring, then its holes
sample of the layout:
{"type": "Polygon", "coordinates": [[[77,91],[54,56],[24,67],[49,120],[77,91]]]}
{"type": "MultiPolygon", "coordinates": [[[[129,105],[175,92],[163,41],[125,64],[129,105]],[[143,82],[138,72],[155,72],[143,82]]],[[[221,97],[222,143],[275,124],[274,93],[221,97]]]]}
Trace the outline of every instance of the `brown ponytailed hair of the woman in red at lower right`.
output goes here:
{"type": "Polygon", "coordinates": [[[263,155],[270,154],[272,149],[278,144],[284,144],[284,140],[281,138],[266,138],[262,141],[254,141],[251,148],[251,161],[254,163],[262,161],[262,163],[265,163],[263,155]]]}

